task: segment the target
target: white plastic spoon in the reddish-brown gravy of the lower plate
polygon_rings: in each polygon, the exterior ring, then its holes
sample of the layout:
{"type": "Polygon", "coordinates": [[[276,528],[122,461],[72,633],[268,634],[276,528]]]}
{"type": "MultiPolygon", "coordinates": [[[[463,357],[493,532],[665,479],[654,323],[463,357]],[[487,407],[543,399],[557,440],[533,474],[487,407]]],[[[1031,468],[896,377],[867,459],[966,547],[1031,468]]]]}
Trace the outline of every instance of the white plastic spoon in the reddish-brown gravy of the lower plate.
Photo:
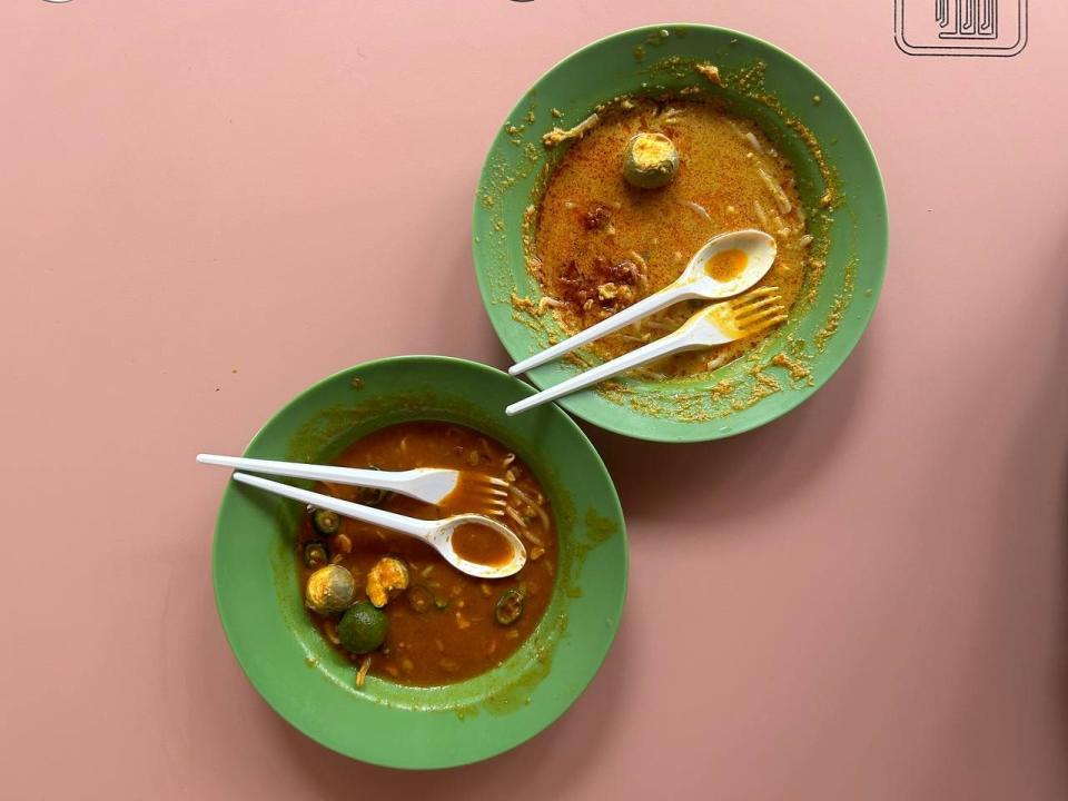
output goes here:
{"type": "Polygon", "coordinates": [[[526,564],[526,546],[511,528],[497,521],[479,514],[458,514],[436,521],[425,521],[418,517],[398,515],[396,512],[386,512],[374,506],[363,506],[350,501],[342,501],[332,495],[314,493],[309,490],[273,482],[268,478],[235,473],[234,481],[249,486],[266,490],[275,495],[310,504],[316,508],[336,512],[345,517],[358,520],[370,525],[382,526],[400,534],[407,534],[422,540],[437,551],[456,570],[478,578],[504,578],[523,570],[526,564]],[[508,541],[512,546],[512,558],[502,565],[485,565],[478,562],[468,562],[453,548],[453,534],[462,525],[481,525],[492,528],[508,541]]]}

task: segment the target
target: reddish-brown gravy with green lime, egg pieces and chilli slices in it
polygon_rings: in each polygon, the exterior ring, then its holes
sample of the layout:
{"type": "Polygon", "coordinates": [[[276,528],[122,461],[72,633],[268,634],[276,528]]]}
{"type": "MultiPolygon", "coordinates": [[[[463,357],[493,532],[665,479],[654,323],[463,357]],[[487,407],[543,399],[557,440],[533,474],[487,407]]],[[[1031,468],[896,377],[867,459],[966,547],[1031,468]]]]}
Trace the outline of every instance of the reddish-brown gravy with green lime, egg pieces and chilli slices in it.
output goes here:
{"type": "MultiPolygon", "coordinates": [[[[315,625],[353,661],[357,686],[368,674],[400,684],[449,684],[511,656],[544,615],[557,564],[553,513],[530,468],[490,437],[442,422],[374,432],[335,464],[389,471],[449,467],[502,478],[508,483],[508,505],[501,520],[527,550],[527,562],[515,575],[476,578],[418,540],[309,510],[297,537],[300,583],[315,625]]],[[[315,488],[426,520],[485,512],[462,487],[439,506],[378,490],[326,483],[315,488]]],[[[504,538],[475,528],[457,528],[456,551],[484,564],[506,562],[511,546],[504,538]]]]}

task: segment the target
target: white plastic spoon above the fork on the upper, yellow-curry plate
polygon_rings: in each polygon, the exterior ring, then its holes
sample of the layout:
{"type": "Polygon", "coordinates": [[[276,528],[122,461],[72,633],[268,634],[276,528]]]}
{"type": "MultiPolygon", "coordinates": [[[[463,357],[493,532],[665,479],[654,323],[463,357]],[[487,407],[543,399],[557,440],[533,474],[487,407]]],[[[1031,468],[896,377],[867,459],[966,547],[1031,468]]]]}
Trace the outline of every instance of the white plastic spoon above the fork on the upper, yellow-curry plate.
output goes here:
{"type": "Polygon", "coordinates": [[[594,339],[619,330],[631,323],[656,314],[680,300],[720,300],[740,295],[763,278],[775,260],[778,248],[774,237],[755,228],[720,234],[712,237],[693,255],[690,264],[674,281],[657,293],[616,312],[600,323],[584,328],[541,353],[523,359],[508,368],[512,375],[520,375],[554,358],[571,353],[594,339]],[[716,254],[724,250],[741,250],[745,254],[745,266],[739,275],[729,280],[720,280],[709,275],[706,265],[716,254]]]}

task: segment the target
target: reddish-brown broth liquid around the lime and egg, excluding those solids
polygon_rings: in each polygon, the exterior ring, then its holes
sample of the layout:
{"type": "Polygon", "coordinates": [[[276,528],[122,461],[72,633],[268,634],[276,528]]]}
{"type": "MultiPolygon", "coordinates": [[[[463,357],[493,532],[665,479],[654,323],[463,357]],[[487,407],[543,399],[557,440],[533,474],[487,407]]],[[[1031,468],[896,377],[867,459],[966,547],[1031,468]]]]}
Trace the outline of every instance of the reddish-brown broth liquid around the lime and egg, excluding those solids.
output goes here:
{"type": "MultiPolygon", "coordinates": [[[[395,595],[383,609],[389,621],[389,631],[378,651],[372,654],[372,675],[402,684],[449,684],[484,673],[511,656],[531,635],[541,621],[553,592],[556,572],[556,532],[548,501],[531,471],[514,458],[500,443],[471,428],[441,422],[404,423],[374,432],[350,445],[335,464],[348,467],[378,467],[399,471],[413,467],[451,467],[484,473],[497,478],[512,478],[522,495],[542,501],[547,515],[548,531],[540,516],[518,500],[510,497],[511,506],[524,518],[530,534],[510,517],[502,523],[520,535],[527,548],[527,563],[517,574],[507,578],[481,580],[461,573],[445,562],[429,545],[385,528],[342,517],[334,536],[318,534],[309,516],[300,524],[297,558],[300,585],[304,586],[313,568],[305,566],[303,553],[310,540],[323,542],[330,556],[348,568],[356,578],[357,601],[366,600],[364,585],[368,571],[383,556],[394,556],[408,567],[408,590],[395,595]],[[344,535],[344,537],[342,536],[344,535]],[[536,537],[537,542],[533,542],[536,537]],[[344,538],[352,544],[344,553],[344,538]],[[508,590],[523,594],[523,614],[511,625],[495,619],[497,601],[508,590]],[[435,603],[427,603],[431,595],[435,603]],[[445,609],[438,609],[444,605],[445,609]]],[[[347,501],[359,501],[359,490],[339,484],[315,487],[347,501]]],[[[379,506],[412,517],[425,520],[447,517],[462,512],[485,512],[474,505],[476,491],[463,484],[446,497],[441,506],[392,494],[379,506]]],[[[487,531],[478,527],[481,531],[487,531]]],[[[457,530],[457,534],[462,528],[457,530]]],[[[468,543],[484,554],[482,562],[502,558],[496,555],[504,537],[490,532],[490,538],[479,534],[477,543],[468,543]]],[[[507,555],[502,561],[507,560],[507,555]]],[[[468,556],[469,557],[469,556],[468,556]]],[[[474,561],[474,560],[473,560],[474,561]]],[[[335,647],[354,664],[363,656],[350,655],[334,642],[333,625],[340,615],[324,619],[308,613],[316,626],[335,647]]]]}

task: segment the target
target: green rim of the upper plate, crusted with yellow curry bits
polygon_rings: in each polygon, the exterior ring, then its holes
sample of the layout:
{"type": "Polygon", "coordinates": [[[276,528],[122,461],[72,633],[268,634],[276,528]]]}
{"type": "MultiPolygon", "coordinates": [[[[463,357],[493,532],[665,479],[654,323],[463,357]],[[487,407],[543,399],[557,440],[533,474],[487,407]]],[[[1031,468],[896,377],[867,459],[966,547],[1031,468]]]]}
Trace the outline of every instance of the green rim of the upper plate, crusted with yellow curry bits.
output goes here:
{"type": "MultiPolygon", "coordinates": [[[[512,294],[541,293],[524,259],[524,216],[537,202],[563,147],[541,136],[568,128],[599,105],[630,93],[698,87],[752,117],[791,157],[798,189],[825,247],[825,268],[804,307],[748,358],[691,379],[651,383],[623,378],[607,390],[586,390],[560,404],[620,434],[662,442],[696,442],[739,434],[785,414],[833,375],[871,318],[887,259],[887,200],[874,155],[838,95],[811,69],[768,42],[738,31],[696,24],[639,28],[594,42],[561,61],[516,105],[486,157],[473,220],[478,287],[494,329],[516,360],[566,336],[551,315],[516,308],[512,294]],[[720,68],[723,87],[696,76],[693,65],[720,68]],[[819,144],[823,169],[809,146],[819,144]],[[827,185],[840,189],[821,211],[827,185]],[[789,360],[779,359],[784,354],[789,360]]],[[[592,354],[583,359],[596,363],[592,354]]],[[[535,368],[538,387],[580,368],[562,360],[535,368]]]]}

